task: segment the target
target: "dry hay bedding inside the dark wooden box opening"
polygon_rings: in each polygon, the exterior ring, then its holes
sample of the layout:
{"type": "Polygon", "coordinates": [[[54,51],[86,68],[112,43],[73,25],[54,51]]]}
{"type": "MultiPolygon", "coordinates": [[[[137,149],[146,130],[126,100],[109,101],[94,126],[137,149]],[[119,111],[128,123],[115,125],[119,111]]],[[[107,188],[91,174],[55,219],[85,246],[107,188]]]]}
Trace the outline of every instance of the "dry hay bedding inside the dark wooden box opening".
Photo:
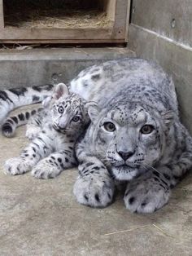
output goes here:
{"type": "Polygon", "coordinates": [[[19,28],[109,28],[111,20],[101,10],[20,8],[5,13],[5,25],[19,28]]]}

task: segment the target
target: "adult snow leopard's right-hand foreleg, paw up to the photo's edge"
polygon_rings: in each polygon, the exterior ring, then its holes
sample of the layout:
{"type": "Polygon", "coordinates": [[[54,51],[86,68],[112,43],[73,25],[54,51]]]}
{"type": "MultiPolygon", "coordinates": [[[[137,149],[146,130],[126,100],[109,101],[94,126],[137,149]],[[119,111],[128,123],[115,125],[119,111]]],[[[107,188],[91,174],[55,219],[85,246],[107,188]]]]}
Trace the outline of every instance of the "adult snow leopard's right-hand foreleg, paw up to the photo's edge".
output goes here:
{"type": "Polygon", "coordinates": [[[126,208],[132,212],[151,213],[168,202],[171,189],[192,166],[192,139],[187,132],[181,138],[185,142],[185,152],[181,150],[180,157],[175,156],[168,165],[151,167],[146,174],[128,183],[124,194],[126,208]]]}

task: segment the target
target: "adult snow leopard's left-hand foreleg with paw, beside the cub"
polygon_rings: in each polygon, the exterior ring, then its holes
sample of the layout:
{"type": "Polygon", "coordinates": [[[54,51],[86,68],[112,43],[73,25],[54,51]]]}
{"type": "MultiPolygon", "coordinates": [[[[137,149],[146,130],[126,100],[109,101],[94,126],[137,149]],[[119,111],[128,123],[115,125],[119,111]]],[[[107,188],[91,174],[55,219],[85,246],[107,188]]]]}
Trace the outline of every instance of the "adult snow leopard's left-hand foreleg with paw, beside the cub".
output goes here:
{"type": "Polygon", "coordinates": [[[80,162],[79,177],[73,188],[76,200],[93,207],[105,207],[112,201],[114,183],[106,166],[97,157],[89,157],[77,147],[76,155],[80,162]]]}

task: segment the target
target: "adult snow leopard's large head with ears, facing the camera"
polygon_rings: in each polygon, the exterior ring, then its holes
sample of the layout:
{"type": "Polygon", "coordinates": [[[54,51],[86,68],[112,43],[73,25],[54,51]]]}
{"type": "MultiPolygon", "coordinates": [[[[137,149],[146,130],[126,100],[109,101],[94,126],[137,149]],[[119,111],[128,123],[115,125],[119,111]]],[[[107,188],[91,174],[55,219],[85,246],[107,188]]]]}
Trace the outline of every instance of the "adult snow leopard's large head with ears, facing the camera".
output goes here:
{"type": "Polygon", "coordinates": [[[144,104],[130,103],[100,111],[89,106],[92,150],[112,176],[129,180],[151,170],[164,155],[172,113],[160,114],[144,104]]]}

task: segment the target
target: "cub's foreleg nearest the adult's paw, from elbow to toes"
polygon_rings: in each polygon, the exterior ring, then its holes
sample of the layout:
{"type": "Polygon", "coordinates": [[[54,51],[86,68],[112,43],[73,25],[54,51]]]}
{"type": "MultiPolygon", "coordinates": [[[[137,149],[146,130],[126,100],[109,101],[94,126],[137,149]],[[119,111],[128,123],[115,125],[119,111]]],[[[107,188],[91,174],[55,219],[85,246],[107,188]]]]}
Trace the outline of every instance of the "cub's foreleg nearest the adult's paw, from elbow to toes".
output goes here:
{"type": "Polygon", "coordinates": [[[73,149],[66,149],[50,154],[33,167],[32,175],[37,179],[50,179],[58,176],[63,170],[77,165],[73,149]]]}

